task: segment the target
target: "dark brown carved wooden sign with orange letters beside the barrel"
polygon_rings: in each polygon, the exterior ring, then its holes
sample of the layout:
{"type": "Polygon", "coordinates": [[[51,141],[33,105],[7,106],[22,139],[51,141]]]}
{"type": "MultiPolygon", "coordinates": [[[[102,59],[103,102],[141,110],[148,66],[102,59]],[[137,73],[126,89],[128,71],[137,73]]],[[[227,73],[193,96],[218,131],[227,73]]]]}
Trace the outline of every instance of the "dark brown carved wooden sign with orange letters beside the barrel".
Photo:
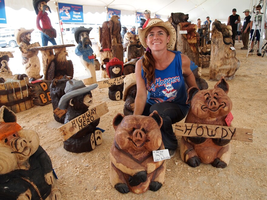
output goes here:
{"type": "Polygon", "coordinates": [[[48,80],[37,80],[28,84],[34,105],[47,105],[52,102],[50,97],[51,83],[52,81],[48,80]]]}

